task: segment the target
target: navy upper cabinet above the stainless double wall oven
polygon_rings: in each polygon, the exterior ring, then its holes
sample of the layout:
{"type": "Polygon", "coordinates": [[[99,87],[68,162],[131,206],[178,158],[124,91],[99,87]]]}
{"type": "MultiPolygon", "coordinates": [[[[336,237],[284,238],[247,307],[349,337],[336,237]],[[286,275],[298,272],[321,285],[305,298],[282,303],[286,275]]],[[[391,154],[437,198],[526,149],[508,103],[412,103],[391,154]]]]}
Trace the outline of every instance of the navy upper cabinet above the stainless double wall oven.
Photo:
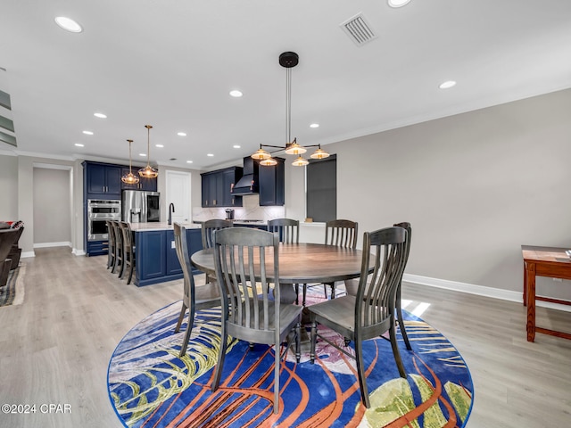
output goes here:
{"type": "Polygon", "coordinates": [[[99,162],[83,162],[86,199],[120,199],[121,167],[99,162]]]}

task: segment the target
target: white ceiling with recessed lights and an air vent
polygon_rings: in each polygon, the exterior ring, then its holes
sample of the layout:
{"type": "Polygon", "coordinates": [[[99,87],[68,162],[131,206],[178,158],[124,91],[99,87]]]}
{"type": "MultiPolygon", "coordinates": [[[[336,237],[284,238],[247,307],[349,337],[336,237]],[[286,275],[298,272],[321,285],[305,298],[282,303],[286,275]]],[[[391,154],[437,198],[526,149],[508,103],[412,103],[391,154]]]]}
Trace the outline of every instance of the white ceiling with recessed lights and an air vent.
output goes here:
{"type": "Polygon", "coordinates": [[[285,51],[300,55],[300,144],[571,87],[569,0],[411,0],[398,9],[386,0],[18,0],[0,14],[0,89],[12,97],[21,154],[128,161],[132,138],[134,161],[145,162],[145,124],[155,165],[212,169],[259,144],[285,144],[285,51]],[[360,12],[377,38],[358,46],[340,24],[360,12]],[[60,29],[59,15],[84,31],[60,29]],[[438,88],[449,79],[458,85],[438,88]],[[235,88],[242,98],[228,95],[235,88]]]}

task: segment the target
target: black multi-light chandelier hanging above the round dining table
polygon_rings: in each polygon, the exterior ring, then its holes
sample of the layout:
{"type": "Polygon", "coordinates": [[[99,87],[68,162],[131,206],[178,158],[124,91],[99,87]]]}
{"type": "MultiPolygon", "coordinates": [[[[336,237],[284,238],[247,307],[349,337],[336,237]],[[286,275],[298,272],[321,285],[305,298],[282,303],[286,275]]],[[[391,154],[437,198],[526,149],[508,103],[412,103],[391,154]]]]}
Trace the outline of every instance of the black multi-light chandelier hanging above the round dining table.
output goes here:
{"type": "Polygon", "coordinates": [[[311,144],[303,147],[297,144],[297,138],[292,141],[292,69],[298,64],[299,56],[294,52],[285,52],[279,55],[279,65],[285,68],[285,145],[269,145],[260,144],[260,149],[252,154],[252,158],[260,162],[262,166],[276,165],[277,161],[271,155],[275,152],[285,151],[286,154],[293,154],[297,156],[292,165],[296,167],[303,167],[310,163],[302,157],[304,152],[307,152],[305,147],[318,147],[310,156],[311,159],[324,159],[329,156],[329,153],[321,149],[321,144],[311,144]],[[269,147],[273,150],[268,152],[263,147],[269,147]]]}

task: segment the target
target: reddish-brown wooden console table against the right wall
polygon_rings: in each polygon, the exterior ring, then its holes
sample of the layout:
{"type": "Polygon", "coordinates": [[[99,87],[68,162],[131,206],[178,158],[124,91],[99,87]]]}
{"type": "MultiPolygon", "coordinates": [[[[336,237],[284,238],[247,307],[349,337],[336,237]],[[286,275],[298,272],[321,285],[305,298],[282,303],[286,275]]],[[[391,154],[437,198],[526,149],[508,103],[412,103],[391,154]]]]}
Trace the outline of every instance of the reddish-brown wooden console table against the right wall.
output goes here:
{"type": "Polygon", "coordinates": [[[556,332],[535,325],[535,300],[571,304],[567,300],[535,295],[535,276],[571,280],[571,259],[567,256],[566,250],[566,248],[557,247],[521,246],[524,257],[524,306],[527,306],[527,342],[534,342],[535,332],[571,339],[569,333],[556,332]]]}

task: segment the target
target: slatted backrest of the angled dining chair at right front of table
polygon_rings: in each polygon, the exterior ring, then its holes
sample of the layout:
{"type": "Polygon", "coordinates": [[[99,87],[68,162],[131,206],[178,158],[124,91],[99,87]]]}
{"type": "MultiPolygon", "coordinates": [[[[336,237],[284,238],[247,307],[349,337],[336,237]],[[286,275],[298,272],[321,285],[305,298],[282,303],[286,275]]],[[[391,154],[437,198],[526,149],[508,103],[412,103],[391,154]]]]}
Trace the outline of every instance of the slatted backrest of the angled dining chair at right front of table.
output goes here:
{"type": "MultiPolygon", "coordinates": [[[[355,334],[375,325],[388,325],[393,320],[396,290],[401,283],[406,263],[406,229],[385,227],[363,234],[363,259],[359,289],[355,302],[355,334]],[[373,253],[371,253],[371,251],[373,253]],[[370,258],[375,268],[368,273],[370,258]]],[[[368,334],[364,334],[368,338],[368,334]]],[[[357,339],[356,339],[357,340],[357,339]]]]}

